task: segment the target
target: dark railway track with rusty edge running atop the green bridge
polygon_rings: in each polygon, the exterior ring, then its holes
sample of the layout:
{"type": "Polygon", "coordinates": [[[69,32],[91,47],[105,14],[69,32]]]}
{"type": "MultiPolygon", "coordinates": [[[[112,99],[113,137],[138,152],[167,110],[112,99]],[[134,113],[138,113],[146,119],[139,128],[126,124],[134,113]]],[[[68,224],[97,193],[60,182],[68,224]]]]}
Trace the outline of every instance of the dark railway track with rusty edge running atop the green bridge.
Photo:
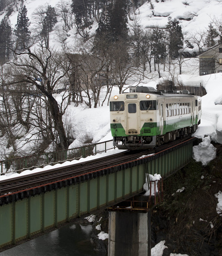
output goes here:
{"type": "Polygon", "coordinates": [[[122,153],[96,158],[95,160],[83,163],[57,167],[47,171],[0,181],[0,204],[124,170],[128,167],[147,162],[151,155],[155,157],[155,154],[159,154],[160,152],[173,150],[174,147],[186,143],[190,139],[194,138],[184,138],[158,147],[155,150],[127,150],[122,153]]]}

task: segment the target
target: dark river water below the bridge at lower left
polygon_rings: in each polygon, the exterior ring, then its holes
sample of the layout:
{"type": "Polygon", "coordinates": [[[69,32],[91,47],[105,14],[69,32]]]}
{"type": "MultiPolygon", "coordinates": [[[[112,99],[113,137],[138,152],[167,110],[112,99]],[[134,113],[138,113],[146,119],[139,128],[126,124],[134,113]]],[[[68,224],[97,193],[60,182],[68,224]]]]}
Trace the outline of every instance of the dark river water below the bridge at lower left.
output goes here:
{"type": "Polygon", "coordinates": [[[105,256],[94,251],[91,234],[90,224],[71,223],[0,252],[0,256],[105,256]]]}

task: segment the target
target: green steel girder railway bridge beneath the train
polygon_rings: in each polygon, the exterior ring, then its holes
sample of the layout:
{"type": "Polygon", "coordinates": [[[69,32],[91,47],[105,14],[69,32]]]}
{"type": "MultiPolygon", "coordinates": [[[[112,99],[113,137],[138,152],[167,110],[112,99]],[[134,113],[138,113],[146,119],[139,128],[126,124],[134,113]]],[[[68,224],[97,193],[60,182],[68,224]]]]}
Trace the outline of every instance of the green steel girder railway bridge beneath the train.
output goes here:
{"type": "Polygon", "coordinates": [[[43,175],[37,185],[33,183],[37,179],[35,175],[28,178],[24,176],[18,183],[13,179],[8,184],[11,191],[1,181],[0,249],[32,239],[58,228],[60,224],[112,207],[140,194],[147,174],[157,173],[166,177],[189,163],[194,141],[195,138],[189,138],[142,156],[141,153],[128,154],[120,162],[114,160],[114,163],[108,163],[108,160],[104,160],[103,167],[98,164],[100,158],[91,168],[87,162],[69,166],[48,173],[45,178],[43,175]],[[85,171],[78,172],[84,168],[85,171]],[[71,169],[75,172],[71,172],[71,169]],[[16,189],[13,190],[14,183],[16,189]]]}

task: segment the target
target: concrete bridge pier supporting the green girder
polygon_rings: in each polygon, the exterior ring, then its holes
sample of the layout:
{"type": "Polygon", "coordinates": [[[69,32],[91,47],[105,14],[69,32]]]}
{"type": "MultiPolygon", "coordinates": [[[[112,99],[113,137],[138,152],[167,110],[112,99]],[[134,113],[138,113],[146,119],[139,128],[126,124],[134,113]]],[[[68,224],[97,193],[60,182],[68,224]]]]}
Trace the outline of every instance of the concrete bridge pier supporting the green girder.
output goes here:
{"type": "Polygon", "coordinates": [[[151,215],[110,211],[108,256],[151,256],[151,215]]]}

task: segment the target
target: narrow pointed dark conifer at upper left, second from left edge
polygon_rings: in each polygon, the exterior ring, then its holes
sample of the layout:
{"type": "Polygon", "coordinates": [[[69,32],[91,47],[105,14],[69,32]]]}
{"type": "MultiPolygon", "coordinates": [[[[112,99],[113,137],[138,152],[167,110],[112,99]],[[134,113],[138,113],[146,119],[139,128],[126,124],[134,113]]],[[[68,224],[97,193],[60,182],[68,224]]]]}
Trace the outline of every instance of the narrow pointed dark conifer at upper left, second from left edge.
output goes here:
{"type": "Polygon", "coordinates": [[[23,5],[23,1],[20,5],[19,14],[17,17],[17,24],[15,29],[16,36],[16,48],[23,50],[24,46],[28,44],[31,32],[28,27],[30,26],[29,19],[27,17],[27,8],[23,5]]]}

